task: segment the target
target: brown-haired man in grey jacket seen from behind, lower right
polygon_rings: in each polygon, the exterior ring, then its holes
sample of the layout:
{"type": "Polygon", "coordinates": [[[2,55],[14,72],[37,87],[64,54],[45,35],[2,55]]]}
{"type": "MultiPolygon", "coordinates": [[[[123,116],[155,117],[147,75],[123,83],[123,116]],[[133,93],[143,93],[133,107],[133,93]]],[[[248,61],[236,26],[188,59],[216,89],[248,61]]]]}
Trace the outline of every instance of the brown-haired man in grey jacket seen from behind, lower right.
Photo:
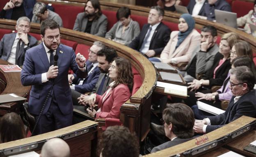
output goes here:
{"type": "Polygon", "coordinates": [[[187,142],[194,136],[194,114],[192,109],[181,103],[176,103],[165,108],[162,119],[165,122],[165,136],[171,141],[154,147],[151,153],[187,142]]]}

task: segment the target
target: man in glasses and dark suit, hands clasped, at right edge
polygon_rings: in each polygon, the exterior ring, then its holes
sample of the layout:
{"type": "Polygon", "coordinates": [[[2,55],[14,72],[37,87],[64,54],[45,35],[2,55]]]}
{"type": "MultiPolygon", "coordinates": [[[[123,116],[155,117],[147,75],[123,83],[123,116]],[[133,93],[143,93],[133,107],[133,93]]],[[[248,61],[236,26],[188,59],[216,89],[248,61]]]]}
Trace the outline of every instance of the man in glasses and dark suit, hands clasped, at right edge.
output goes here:
{"type": "Polygon", "coordinates": [[[196,120],[194,130],[197,133],[209,133],[242,115],[256,117],[256,92],[254,74],[247,66],[238,66],[230,70],[230,86],[233,97],[228,108],[220,115],[196,120]]]}

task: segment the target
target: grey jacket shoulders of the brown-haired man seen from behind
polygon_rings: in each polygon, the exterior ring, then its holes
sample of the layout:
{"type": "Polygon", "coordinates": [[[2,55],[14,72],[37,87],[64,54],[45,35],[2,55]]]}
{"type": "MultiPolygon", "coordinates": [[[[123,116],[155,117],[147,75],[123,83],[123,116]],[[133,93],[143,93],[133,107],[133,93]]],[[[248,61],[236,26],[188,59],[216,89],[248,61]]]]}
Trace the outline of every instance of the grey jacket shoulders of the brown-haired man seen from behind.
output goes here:
{"type": "MultiPolygon", "coordinates": [[[[190,139],[193,139],[195,137],[192,137],[190,139]]],[[[172,146],[176,146],[178,144],[182,144],[184,142],[187,142],[189,141],[190,139],[181,139],[179,137],[176,137],[174,140],[172,141],[168,141],[168,142],[165,142],[163,144],[160,144],[159,146],[156,146],[154,147],[152,150],[151,150],[151,153],[154,153],[154,152],[157,152],[159,150],[163,150],[163,149],[166,149],[166,148],[169,148],[169,147],[172,147],[172,146]]]]}

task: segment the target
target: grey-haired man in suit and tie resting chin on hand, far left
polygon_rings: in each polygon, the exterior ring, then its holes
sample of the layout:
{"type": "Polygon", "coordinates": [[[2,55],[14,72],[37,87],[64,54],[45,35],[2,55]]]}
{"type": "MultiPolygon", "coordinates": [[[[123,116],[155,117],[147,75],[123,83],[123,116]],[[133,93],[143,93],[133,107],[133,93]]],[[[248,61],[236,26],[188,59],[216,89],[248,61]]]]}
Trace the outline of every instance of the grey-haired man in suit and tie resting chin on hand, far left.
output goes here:
{"type": "Polygon", "coordinates": [[[11,64],[22,66],[25,52],[30,47],[37,45],[37,39],[28,35],[30,31],[30,19],[23,16],[16,23],[17,33],[5,34],[0,41],[0,58],[11,64]]]}

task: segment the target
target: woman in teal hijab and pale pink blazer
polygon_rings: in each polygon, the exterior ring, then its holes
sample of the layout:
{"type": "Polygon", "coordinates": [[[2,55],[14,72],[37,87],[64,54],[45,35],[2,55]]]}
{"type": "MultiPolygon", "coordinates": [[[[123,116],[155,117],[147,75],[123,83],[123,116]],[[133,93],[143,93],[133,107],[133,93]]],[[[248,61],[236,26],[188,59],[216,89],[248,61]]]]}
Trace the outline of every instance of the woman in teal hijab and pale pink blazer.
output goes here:
{"type": "Polygon", "coordinates": [[[188,13],[179,18],[179,31],[172,31],[170,40],[162,51],[160,58],[150,58],[150,61],[178,64],[189,62],[190,57],[200,45],[200,33],[194,29],[195,21],[188,13]]]}

